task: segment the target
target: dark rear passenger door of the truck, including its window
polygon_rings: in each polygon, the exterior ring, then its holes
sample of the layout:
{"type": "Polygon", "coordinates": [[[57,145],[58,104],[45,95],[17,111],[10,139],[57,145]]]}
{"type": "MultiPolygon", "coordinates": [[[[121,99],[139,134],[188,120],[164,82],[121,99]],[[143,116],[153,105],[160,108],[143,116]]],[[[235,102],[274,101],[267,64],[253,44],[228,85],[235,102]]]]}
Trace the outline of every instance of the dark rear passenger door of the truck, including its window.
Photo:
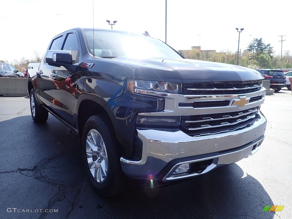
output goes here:
{"type": "MultiPolygon", "coordinates": [[[[58,36],[50,43],[48,50],[59,50],[62,46],[64,35],[58,36]]],[[[52,87],[53,81],[51,78],[52,69],[55,67],[48,65],[45,59],[41,61],[39,66],[38,83],[39,83],[39,98],[49,108],[52,108],[52,87]]]]}

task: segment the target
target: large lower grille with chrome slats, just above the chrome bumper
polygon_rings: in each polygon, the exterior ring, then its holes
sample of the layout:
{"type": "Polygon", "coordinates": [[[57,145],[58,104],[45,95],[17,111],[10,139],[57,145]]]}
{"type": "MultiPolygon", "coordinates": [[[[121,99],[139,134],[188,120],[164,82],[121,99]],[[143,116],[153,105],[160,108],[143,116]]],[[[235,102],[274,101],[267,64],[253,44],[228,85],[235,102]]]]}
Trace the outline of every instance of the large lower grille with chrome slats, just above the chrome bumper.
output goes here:
{"type": "Polygon", "coordinates": [[[252,125],[259,107],[236,112],[191,115],[181,117],[181,127],[190,135],[205,135],[233,131],[252,125]]]}

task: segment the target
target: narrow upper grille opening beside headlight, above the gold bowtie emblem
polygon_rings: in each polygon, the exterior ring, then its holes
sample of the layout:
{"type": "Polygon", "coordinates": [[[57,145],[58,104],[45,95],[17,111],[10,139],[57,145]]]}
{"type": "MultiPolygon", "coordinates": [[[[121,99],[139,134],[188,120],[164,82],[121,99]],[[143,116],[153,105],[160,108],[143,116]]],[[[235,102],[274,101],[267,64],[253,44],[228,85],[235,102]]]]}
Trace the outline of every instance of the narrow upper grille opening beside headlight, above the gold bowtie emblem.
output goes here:
{"type": "Polygon", "coordinates": [[[184,95],[230,95],[259,91],[262,80],[184,83],[184,95]]]}

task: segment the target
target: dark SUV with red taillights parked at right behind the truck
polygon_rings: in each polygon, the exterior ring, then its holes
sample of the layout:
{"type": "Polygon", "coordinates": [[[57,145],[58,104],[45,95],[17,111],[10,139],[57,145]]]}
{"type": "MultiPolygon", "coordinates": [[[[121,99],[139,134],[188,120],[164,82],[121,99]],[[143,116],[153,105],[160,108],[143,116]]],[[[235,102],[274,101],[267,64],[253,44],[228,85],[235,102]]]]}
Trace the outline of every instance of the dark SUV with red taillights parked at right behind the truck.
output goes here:
{"type": "Polygon", "coordinates": [[[281,88],[286,87],[286,76],[279,69],[255,69],[260,72],[265,80],[270,80],[270,88],[274,89],[275,92],[281,90],[281,88]]]}

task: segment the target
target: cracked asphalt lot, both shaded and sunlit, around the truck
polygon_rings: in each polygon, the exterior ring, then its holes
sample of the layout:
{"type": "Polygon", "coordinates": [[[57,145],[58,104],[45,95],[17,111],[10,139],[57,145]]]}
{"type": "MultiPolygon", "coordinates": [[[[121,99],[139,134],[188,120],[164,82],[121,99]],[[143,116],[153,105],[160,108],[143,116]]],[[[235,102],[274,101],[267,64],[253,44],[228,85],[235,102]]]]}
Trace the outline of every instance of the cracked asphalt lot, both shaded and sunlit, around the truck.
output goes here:
{"type": "Polygon", "coordinates": [[[0,218],[290,219],[291,109],[291,91],[266,96],[266,138],[251,157],[159,189],[129,184],[125,194],[105,199],[85,175],[73,131],[52,115],[35,124],[27,97],[0,97],[0,218]],[[266,205],[285,207],[263,212],[266,205]]]}

